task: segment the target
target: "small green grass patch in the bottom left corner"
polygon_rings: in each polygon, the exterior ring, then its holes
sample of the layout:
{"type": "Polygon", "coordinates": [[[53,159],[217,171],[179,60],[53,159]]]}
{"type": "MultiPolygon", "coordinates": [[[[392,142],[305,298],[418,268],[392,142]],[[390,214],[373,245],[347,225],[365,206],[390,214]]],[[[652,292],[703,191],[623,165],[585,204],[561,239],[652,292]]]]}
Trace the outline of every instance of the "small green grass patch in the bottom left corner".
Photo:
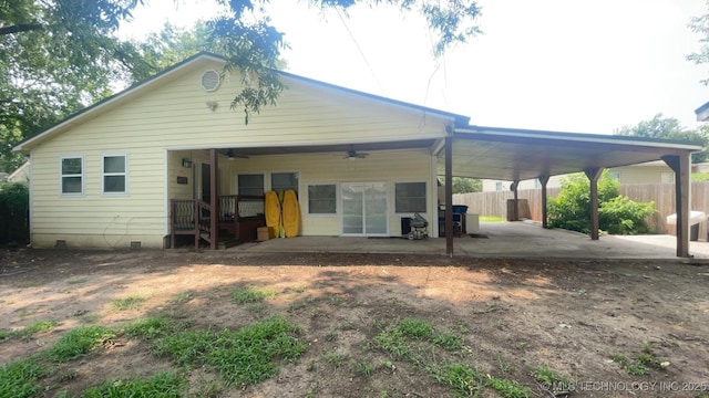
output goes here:
{"type": "Polygon", "coordinates": [[[39,379],[45,374],[47,369],[30,358],[0,366],[0,398],[37,397],[42,390],[39,379]]]}

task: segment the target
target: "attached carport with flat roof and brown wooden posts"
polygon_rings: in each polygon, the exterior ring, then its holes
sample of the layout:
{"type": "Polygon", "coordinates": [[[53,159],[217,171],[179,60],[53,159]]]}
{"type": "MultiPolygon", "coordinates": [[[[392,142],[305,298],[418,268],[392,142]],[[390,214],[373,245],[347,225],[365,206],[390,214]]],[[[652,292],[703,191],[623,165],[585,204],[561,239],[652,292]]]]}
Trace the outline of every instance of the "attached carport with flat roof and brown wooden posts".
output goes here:
{"type": "Polygon", "coordinates": [[[675,171],[677,256],[690,256],[690,155],[702,149],[699,144],[628,136],[466,126],[451,128],[449,136],[441,140],[435,149],[439,155],[439,174],[445,176],[445,202],[449,205],[445,211],[445,239],[449,256],[453,255],[453,214],[450,206],[453,198],[453,176],[513,181],[515,200],[518,181],[538,178],[542,184],[543,226],[546,227],[548,178],[583,171],[590,181],[590,239],[598,240],[597,181],[603,169],[660,159],[675,171]]]}

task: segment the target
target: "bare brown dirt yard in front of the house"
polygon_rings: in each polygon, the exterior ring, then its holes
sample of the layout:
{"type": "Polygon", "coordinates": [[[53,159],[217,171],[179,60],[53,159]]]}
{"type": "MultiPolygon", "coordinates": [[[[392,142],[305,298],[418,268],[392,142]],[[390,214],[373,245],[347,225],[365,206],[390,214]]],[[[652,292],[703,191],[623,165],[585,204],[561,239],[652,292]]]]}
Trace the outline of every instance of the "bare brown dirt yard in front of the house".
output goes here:
{"type": "Polygon", "coordinates": [[[183,396],[512,396],[491,387],[490,380],[506,380],[528,397],[709,397],[707,265],[18,250],[0,254],[0,331],[55,324],[0,339],[0,365],[41,353],[81,326],[120,331],[155,314],[216,329],[281,315],[300,326],[298,338],[307,345],[297,360],[278,363],[275,377],[228,386],[208,366],[182,369],[154,355],[150,342],[119,333],[88,356],[56,365],[40,379],[39,396],[81,396],[103,380],[179,368],[188,383],[183,396]],[[239,286],[270,294],[263,303],[237,304],[232,294],[239,286]],[[143,302],[116,307],[116,300],[131,296],[143,302]],[[404,318],[459,336],[463,348],[421,348],[421,356],[407,357],[377,343],[387,325],[404,318]],[[646,371],[624,368],[621,358],[646,371]],[[489,381],[456,390],[435,377],[451,362],[489,381]],[[564,381],[545,385],[541,369],[564,381]]]}

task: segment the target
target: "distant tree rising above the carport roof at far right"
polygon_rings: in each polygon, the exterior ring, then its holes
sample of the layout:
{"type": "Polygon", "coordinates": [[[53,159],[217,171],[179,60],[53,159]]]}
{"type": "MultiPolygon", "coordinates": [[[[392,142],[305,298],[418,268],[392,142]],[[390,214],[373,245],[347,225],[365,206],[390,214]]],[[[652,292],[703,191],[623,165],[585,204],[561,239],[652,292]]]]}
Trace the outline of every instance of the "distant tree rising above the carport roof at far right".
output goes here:
{"type": "Polygon", "coordinates": [[[636,126],[624,126],[614,132],[616,135],[634,136],[651,139],[681,139],[698,143],[705,150],[692,154],[692,163],[702,163],[709,159],[709,126],[703,125],[692,130],[682,127],[679,121],[672,117],[664,117],[657,114],[649,121],[638,123],[636,126]]]}

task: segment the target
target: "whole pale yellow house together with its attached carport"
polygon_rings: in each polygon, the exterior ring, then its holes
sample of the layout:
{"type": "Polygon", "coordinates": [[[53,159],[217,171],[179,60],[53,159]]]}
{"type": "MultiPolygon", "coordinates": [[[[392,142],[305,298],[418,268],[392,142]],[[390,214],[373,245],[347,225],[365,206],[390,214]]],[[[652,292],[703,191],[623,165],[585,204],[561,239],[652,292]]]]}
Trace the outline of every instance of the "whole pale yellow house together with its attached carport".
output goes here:
{"type": "MultiPolygon", "coordinates": [[[[240,76],[220,78],[224,65],[199,53],[20,143],[14,150],[31,164],[32,245],[169,248],[184,239],[217,249],[256,239],[264,192],[285,189],[297,191],[302,235],[395,237],[414,213],[438,220],[440,175],[452,198],[453,175],[546,184],[658,159],[680,176],[678,224],[689,217],[686,170],[701,149],[692,143],[473,126],[285,72],[278,104],[246,125],[229,106],[240,76]]],[[[451,226],[451,206],[444,219],[451,226]]],[[[439,223],[430,229],[436,237],[439,223]]],[[[688,255],[687,242],[678,233],[678,255],[688,255]]]]}

